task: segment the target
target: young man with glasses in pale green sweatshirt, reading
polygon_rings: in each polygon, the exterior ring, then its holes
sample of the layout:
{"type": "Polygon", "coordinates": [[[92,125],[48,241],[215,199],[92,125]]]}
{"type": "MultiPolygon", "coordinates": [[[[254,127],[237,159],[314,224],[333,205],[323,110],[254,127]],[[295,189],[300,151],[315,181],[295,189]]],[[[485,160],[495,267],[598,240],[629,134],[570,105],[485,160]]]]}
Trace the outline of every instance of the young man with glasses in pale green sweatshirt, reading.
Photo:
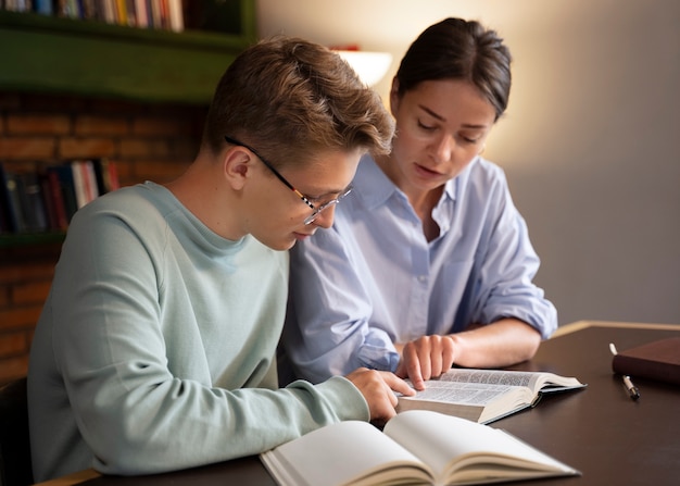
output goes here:
{"type": "Polygon", "coordinates": [[[392,122],[327,49],[260,42],[219,82],[200,151],[167,186],[73,219],[32,348],[36,481],[146,474],[253,454],[349,419],[389,420],[390,373],[277,389],[288,250],[332,223],[392,122]]]}

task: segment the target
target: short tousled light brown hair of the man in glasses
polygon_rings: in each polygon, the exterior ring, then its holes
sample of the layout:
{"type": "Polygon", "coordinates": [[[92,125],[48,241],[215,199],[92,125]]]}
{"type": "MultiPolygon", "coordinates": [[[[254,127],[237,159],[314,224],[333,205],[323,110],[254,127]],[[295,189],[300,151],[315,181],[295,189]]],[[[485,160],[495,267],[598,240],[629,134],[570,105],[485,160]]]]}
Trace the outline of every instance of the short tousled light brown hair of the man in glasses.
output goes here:
{"type": "Polygon", "coordinates": [[[393,121],[380,97],[331,50],[277,36],[242,52],[219,80],[203,145],[217,153],[224,136],[268,154],[273,163],[304,163],[318,150],[387,153],[393,121]]]}

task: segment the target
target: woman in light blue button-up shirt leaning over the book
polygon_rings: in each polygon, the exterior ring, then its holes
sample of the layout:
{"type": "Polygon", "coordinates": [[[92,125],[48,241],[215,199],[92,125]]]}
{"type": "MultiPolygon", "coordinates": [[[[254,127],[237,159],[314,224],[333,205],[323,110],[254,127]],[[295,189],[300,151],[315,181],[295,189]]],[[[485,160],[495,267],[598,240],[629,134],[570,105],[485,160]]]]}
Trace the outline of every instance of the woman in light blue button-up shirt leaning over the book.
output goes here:
{"type": "Polygon", "coordinates": [[[291,253],[284,354],[319,382],[356,366],[424,379],[530,359],[556,328],[539,259],[500,167],[480,154],[504,113],[511,54],[446,18],[402,59],[390,154],[365,157],[331,230],[291,253]]]}

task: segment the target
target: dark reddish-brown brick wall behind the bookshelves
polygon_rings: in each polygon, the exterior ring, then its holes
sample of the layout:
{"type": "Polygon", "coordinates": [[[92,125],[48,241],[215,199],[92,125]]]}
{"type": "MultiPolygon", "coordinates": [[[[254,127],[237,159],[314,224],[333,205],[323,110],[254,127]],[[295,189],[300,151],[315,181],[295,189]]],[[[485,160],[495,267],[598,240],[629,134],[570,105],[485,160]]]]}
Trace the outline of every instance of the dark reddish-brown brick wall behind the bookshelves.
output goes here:
{"type": "MultiPolygon", "coordinates": [[[[175,178],[198,150],[205,107],[0,92],[0,161],[36,171],[74,159],[115,161],[122,185],[175,178]]],[[[0,248],[0,384],[26,374],[61,244],[0,248]]]]}

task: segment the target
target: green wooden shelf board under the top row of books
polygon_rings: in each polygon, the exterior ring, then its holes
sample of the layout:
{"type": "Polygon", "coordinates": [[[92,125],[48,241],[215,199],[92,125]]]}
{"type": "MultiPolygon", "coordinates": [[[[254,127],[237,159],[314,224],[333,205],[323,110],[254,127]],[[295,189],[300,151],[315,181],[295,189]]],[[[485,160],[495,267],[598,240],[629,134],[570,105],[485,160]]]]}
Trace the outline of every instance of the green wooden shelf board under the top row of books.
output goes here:
{"type": "Polygon", "coordinates": [[[0,90],[207,104],[256,39],[254,0],[227,3],[239,22],[224,34],[0,11],[0,90]]]}

